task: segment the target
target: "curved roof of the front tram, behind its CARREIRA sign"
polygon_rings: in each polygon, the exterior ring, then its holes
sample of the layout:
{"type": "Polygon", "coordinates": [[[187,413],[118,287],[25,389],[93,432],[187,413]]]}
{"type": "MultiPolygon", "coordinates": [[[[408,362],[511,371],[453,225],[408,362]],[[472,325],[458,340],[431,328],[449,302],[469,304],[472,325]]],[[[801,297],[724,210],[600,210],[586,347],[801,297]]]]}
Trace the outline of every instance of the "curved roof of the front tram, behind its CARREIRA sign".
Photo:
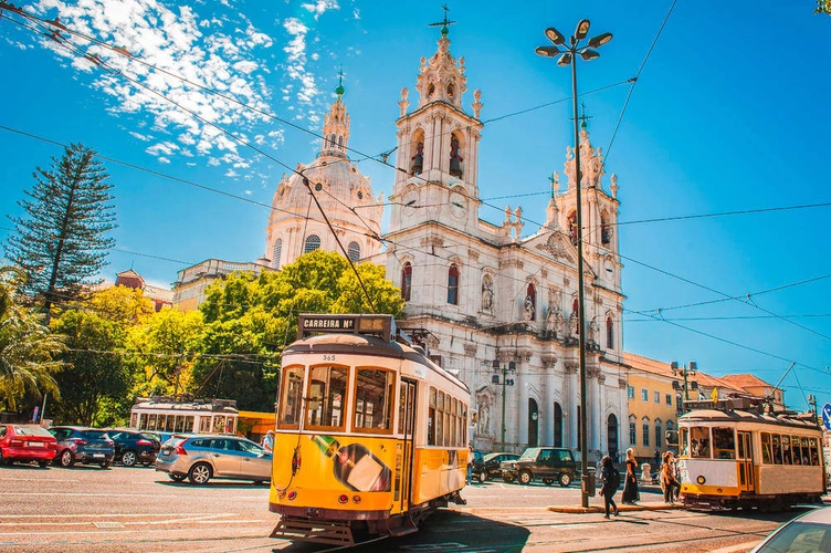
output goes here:
{"type": "Polygon", "coordinates": [[[417,347],[364,334],[318,334],[293,342],[283,349],[283,355],[319,352],[411,361],[467,389],[466,384],[430,361],[421,348],[417,347]]]}

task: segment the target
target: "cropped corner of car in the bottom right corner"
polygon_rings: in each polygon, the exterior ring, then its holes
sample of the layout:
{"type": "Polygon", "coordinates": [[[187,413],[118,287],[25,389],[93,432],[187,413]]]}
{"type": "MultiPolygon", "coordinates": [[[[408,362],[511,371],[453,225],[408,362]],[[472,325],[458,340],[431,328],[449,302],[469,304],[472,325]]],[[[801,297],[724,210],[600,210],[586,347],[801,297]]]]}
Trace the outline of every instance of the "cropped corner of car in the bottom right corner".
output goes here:
{"type": "Polygon", "coordinates": [[[831,551],[831,507],[808,511],[779,526],[750,553],[831,551]]]}

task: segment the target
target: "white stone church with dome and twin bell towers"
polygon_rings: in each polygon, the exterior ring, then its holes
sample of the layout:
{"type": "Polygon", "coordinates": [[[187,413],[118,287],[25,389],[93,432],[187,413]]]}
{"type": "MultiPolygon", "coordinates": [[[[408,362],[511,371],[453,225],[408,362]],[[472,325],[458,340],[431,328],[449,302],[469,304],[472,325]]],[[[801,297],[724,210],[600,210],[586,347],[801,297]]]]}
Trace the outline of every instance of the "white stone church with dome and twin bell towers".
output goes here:
{"type": "Polygon", "coordinates": [[[610,194],[588,129],[580,133],[585,264],[577,267],[577,173],[571,148],[565,181],[555,173],[545,225],[523,233],[522,208],[480,219],[478,148],[482,94],[470,112],[464,59],[450,52],[442,28],[436,52],[421,59],[410,95],[401,91],[396,180],[381,251],[382,198],[347,156],[349,116],[338,86],[317,158],[298,164],[274,195],[265,258],[278,269],[317,248],[387,268],[407,301],[399,326],[471,388],[473,447],[522,451],[530,446],[578,449],[578,333],[587,338],[587,442],[590,459],[625,449],[627,373],[622,357],[622,289],[610,194]],[[314,198],[309,191],[314,190],[314,198]],[[320,211],[335,228],[333,236],[320,211]],[[360,209],[359,209],[360,208],[360,209]],[[339,243],[338,243],[339,242],[339,243]],[[577,271],[586,283],[586,316],[577,316],[577,271]]]}

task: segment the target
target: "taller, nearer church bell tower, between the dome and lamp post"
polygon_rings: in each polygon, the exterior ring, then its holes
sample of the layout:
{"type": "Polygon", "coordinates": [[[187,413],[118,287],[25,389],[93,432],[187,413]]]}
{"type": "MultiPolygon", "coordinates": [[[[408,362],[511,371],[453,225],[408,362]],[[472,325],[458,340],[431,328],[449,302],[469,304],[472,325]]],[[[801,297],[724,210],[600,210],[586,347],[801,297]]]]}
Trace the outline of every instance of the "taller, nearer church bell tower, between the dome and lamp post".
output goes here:
{"type": "Polygon", "coordinates": [[[428,219],[460,228],[478,219],[478,117],[484,104],[475,91],[473,115],[462,106],[467,77],[464,58],[456,61],[450,53],[448,28],[453,23],[445,12],[444,21],[431,25],[441,25],[441,36],[436,52],[421,59],[413,111],[408,112],[409,91],[401,90],[390,231],[428,219]]]}

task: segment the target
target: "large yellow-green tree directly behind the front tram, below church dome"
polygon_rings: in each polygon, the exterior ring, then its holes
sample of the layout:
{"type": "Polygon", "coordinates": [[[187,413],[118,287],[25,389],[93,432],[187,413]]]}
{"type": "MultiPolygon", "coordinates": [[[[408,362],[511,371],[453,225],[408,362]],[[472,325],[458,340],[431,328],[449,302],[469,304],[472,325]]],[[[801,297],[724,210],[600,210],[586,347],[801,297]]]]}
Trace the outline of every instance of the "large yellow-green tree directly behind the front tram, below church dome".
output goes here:
{"type": "MultiPolygon", "coordinates": [[[[400,291],[383,268],[358,265],[379,313],[398,314],[400,291]]],[[[228,397],[242,409],[271,410],[278,357],[297,334],[298,313],[367,313],[371,309],[341,255],[315,250],[280,272],[235,273],[206,292],[206,354],[193,367],[194,395],[228,397]]]]}

